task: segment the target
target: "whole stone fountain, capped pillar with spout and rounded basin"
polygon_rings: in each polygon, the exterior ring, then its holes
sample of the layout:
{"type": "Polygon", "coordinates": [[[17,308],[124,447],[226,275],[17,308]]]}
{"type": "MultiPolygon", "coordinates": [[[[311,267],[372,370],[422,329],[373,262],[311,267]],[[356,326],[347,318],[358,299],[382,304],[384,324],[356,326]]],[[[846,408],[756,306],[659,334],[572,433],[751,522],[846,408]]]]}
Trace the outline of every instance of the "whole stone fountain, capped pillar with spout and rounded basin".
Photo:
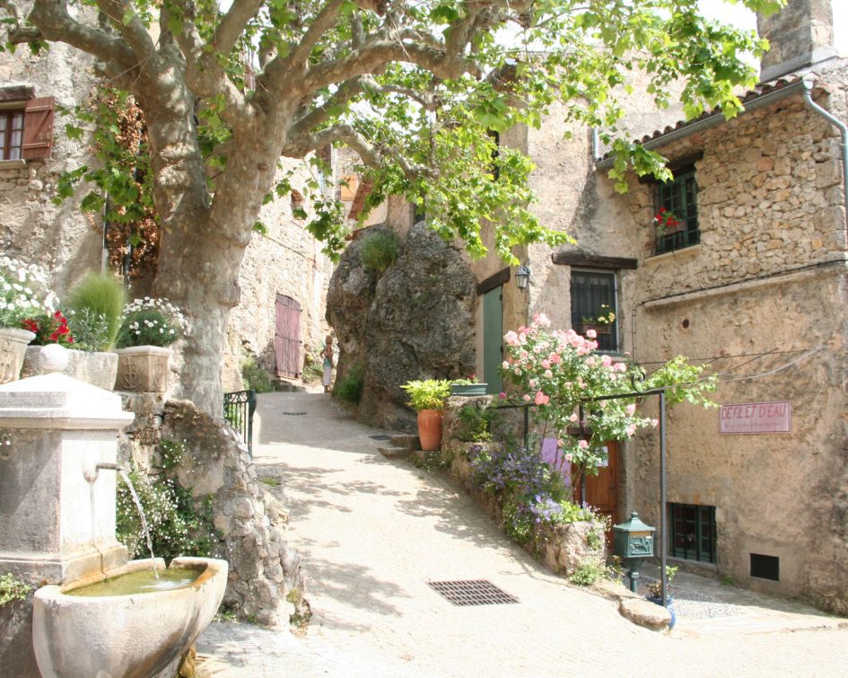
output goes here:
{"type": "Polygon", "coordinates": [[[132,420],[118,395],[58,372],[0,386],[0,574],[39,587],[31,614],[0,617],[4,675],[173,675],[212,621],[224,560],[174,559],[171,568],[188,571],[178,585],[111,586],[153,566],[127,563],[115,538],[117,436],[132,420]]]}

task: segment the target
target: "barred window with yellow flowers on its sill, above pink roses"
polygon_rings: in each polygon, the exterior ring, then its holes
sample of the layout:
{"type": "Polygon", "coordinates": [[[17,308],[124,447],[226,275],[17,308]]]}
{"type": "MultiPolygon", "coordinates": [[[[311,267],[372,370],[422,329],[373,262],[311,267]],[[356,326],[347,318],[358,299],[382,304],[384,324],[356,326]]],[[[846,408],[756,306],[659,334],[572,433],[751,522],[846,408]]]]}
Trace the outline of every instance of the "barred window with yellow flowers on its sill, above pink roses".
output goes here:
{"type": "Polygon", "coordinates": [[[580,334],[595,330],[599,351],[618,351],[616,273],[572,269],[571,288],[574,330],[580,334]]]}

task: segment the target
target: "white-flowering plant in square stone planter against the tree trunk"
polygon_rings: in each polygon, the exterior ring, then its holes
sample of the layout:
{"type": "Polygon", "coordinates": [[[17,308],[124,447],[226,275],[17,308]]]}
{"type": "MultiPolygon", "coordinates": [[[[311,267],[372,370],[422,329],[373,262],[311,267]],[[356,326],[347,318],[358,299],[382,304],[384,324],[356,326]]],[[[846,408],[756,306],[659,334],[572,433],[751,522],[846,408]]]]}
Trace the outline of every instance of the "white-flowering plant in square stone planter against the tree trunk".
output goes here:
{"type": "Polygon", "coordinates": [[[119,391],[164,392],[168,387],[170,345],[188,323],[167,299],[145,296],[127,304],[118,332],[119,391]]]}

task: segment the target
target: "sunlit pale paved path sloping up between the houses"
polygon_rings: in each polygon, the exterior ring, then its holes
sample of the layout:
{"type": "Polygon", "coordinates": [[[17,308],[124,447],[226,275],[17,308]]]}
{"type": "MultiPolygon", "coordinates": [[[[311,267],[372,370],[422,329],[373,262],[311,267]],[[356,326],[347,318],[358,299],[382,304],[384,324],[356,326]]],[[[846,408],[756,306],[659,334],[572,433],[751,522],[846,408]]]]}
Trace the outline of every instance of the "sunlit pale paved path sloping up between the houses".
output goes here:
{"type": "Polygon", "coordinates": [[[385,431],[327,395],[263,395],[258,414],[254,458],[283,473],[313,617],[303,638],[214,623],[205,675],[848,674],[846,620],[678,574],[678,626],[644,630],[547,572],[443,474],[383,458],[385,431]],[[427,586],[476,579],[519,603],[457,607],[427,586]]]}

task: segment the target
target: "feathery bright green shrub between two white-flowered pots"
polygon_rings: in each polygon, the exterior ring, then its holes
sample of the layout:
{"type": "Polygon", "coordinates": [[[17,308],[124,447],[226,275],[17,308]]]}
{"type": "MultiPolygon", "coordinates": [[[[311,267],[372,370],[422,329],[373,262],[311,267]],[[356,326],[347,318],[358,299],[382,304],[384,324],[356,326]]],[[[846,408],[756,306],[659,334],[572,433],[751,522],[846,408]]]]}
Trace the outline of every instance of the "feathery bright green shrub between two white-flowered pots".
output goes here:
{"type": "Polygon", "coordinates": [[[126,303],[127,293],[117,277],[93,271],[84,277],[71,289],[65,304],[76,348],[92,351],[115,348],[126,303]]]}

